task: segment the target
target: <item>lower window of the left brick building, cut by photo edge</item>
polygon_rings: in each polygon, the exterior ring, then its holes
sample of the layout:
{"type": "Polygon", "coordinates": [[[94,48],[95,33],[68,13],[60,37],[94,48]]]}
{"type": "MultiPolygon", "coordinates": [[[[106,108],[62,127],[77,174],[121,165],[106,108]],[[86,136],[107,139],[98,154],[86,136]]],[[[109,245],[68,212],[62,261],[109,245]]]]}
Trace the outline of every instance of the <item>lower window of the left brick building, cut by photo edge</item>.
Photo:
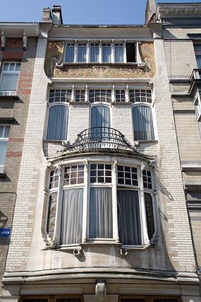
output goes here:
{"type": "Polygon", "coordinates": [[[0,125],[0,173],[4,172],[10,126],[0,125]]]}

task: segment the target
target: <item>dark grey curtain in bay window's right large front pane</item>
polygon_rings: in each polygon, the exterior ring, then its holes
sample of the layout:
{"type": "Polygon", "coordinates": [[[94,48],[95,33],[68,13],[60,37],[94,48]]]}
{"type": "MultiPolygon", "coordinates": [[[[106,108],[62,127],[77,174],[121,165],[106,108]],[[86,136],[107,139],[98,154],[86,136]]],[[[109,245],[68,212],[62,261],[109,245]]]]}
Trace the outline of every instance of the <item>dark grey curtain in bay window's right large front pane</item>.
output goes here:
{"type": "Polygon", "coordinates": [[[123,245],[142,245],[138,191],[118,190],[118,234],[123,245]]]}

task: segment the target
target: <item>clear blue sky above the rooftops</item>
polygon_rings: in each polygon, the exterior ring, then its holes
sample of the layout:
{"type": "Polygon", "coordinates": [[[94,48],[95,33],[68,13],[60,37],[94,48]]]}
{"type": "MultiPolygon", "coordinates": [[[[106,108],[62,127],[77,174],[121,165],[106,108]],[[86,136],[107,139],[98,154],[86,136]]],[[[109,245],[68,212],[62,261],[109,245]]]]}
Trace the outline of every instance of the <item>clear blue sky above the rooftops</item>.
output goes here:
{"type": "MultiPolygon", "coordinates": [[[[159,0],[157,3],[199,0],[159,0]]],[[[40,22],[42,9],[61,5],[63,24],[145,24],[147,0],[0,0],[0,22],[40,22]],[[4,8],[4,9],[2,9],[4,8]]]]}

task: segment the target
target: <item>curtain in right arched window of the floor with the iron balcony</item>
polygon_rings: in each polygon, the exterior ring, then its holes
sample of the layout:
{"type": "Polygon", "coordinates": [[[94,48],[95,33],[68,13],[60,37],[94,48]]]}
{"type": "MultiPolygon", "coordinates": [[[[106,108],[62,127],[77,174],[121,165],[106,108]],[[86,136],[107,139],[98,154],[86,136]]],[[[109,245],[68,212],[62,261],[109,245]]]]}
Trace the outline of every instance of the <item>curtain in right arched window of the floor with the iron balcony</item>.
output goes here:
{"type": "Polygon", "coordinates": [[[135,141],[154,139],[152,108],[149,106],[133,107],[133,128],[135,141]]]}

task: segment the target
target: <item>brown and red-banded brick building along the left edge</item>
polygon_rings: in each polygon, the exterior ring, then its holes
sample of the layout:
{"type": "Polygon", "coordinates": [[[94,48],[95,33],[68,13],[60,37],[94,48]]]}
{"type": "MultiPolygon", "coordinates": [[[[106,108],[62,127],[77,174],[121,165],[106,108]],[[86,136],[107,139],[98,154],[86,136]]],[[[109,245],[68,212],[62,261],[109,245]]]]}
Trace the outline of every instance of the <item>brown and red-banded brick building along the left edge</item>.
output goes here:
{"type": "Polygon", "coordinates": [[[0,279],[16,201],[38,35],[37,23],[1,23],[0,279]]]}

